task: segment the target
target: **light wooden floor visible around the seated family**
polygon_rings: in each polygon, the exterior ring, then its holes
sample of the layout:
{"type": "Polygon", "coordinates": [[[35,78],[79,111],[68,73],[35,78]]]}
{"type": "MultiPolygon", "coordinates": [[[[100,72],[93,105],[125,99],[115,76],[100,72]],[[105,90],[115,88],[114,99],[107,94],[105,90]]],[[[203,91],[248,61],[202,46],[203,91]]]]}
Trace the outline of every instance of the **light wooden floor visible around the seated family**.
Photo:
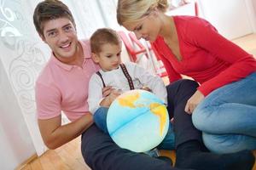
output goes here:
{"type": "MultiPolygon", "coordinates": [[[[256,56],[256,34],[241,37],[233,40],[236,44],[244,48],[250,54],[256,56]]],[[[172,157],[175,160],[175,153],[171,151],[161,151],[164,156],[172,157]]],[[[256,151],[254,151],[256,155],[256,151]]],[[[17,167],[22,170],[90,170],[84,163],[80,151],[80,138],[64,144],[56,150],[48,150],[43,156],[17,167]]],[[[256,170],[256,164],[253,167],[256,170]]]]}

